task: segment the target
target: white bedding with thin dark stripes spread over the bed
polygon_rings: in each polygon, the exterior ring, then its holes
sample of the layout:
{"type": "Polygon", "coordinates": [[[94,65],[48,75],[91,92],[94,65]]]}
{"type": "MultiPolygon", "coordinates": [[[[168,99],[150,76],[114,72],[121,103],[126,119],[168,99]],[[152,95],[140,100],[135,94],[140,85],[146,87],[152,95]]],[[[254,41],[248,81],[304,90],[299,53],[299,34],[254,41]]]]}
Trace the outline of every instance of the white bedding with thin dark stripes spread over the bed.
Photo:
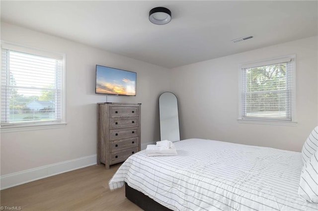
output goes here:
{"type": "Polygon", "coordinates": [[[177,156],[128,158],[109,181],[124,182],[180,211],[318,210],[298,194],[301,153],[203,139],[174,142],[177,156]]]}

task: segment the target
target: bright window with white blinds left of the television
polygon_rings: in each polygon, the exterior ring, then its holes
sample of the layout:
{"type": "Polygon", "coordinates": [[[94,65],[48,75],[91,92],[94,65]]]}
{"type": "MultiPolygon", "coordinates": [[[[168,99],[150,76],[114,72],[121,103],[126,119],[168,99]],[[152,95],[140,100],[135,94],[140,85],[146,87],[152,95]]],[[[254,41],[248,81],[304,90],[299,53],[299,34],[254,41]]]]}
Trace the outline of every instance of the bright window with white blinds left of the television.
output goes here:
{"type": "Polygon", "coordinates": [[[1,130],[65,123],[65,56],[7,43],[1,54],[1,130]]]}

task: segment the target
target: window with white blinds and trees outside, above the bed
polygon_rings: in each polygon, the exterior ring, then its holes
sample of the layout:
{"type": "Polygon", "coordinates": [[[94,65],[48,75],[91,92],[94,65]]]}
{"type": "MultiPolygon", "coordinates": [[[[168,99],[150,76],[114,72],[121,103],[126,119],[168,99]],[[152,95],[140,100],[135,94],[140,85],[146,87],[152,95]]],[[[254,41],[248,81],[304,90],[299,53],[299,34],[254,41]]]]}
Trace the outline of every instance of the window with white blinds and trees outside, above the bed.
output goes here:
{"type": "Polygon", "coordinates": [[[241,66],[241,120],[295,122],[295,56],[241,66]]]}

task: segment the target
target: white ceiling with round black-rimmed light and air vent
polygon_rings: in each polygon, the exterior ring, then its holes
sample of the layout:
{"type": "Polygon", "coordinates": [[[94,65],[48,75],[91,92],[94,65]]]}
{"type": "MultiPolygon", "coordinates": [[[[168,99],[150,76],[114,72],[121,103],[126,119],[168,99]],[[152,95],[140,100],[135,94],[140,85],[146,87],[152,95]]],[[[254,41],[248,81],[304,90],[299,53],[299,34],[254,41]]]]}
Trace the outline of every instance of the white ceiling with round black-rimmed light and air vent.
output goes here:
{"type": "Polygon", "coordinates": [[[315,36],[317,14],[316,0],[1,0],[1,21],[166,68],[315,36]],[[170,23],[149,21],[157,6],[171,10],[170,23]]]}

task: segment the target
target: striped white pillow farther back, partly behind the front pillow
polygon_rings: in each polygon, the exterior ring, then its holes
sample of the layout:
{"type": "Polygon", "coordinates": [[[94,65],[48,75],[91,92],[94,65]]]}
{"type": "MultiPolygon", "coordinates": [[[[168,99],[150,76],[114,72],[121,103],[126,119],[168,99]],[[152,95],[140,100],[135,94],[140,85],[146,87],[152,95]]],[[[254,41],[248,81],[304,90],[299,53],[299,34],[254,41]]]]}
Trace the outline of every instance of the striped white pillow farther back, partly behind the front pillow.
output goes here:
{"type": "Polygon", "coordinates": [[[308,136],[303,149],[302,157],[303,163],[305,164],[309,158],[311,158],[315,152],[318,150],[318,126],[312,131],[308,136]]]}

